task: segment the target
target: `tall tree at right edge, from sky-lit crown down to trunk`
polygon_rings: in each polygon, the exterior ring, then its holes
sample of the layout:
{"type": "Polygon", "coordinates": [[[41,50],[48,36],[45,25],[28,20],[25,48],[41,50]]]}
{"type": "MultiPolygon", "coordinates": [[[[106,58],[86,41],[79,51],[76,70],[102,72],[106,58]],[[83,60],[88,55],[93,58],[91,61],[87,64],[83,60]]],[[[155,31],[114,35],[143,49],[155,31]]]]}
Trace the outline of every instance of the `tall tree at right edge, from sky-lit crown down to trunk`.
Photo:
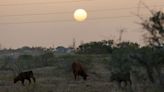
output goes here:
{"type": "Polygon", "coordinates": [[[145,36],[148,47],[140,50],[140,57],[137,60],[147,69],[152,82],[155,82],[154,74],[157,74],[157,78],[161,82],[161,64],[163,64],[164,60],[164,13],[162,11],[150,12],[152,14],[151,17],[146,20],[141,18],[141,25],[149,34],[145,36]]]}

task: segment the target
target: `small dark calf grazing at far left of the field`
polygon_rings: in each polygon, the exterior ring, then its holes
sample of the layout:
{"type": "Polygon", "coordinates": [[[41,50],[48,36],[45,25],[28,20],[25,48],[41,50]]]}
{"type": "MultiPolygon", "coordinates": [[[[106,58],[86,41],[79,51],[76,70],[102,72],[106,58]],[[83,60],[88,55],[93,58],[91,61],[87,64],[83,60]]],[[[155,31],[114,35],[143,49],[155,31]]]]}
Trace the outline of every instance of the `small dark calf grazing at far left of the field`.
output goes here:
{"type": "Polygon", "coordinates": [[[29,84],[30,84],[31,83],[31,78],[35,82],[35,77],[34,77],[32,71],[21,72],[21,73],[19,73],[18,76],[16,76],[14,78],[14,83],[17,83],[18,81],[21,81],[22,85],[24,86],[25,79],[27,79],[29,81],[29,84]]]}

